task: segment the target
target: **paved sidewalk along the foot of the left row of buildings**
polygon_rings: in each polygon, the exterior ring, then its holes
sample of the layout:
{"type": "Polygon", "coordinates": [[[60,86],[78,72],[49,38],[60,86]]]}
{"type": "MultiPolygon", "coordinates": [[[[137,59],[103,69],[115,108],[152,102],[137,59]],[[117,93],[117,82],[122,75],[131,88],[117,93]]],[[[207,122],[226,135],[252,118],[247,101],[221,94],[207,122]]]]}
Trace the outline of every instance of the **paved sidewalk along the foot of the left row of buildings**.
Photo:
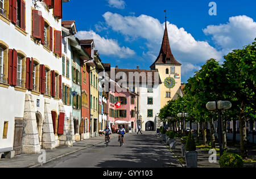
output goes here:
{"type": "MultiPolygon", "coordinates": [[[[112,134],[112,139],[117,138],[117,134],[112,134]]],[[[105,136],[90,138],[73,143],[73,147],[61,146],[55,150],[46,150],[46,163],[56,160],[60,157],[73,154],[77,151],[84,150],[85,148],[95,146],[99,143],[105,142],[105,136]]],[[[0,168],[30,168],[39,167],[41,164],[38,162],[40,154],[22,154],[17,155],[13,159],[0,159],[0,168]]]]}

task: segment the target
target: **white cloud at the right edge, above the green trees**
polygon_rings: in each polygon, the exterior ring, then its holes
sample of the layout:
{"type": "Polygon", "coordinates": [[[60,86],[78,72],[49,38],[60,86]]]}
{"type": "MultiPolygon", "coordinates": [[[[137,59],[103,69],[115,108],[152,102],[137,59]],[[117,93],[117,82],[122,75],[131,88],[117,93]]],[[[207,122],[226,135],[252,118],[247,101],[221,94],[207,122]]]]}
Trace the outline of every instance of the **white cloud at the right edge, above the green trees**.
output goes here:
{"type": "Polygon", "coordinates": [[[205,35],[212,36],[217,48],[222,49],[224,53],[228,53],[254,41],[256,22],[246,15],[233,16],[229,18],[228,23],[208,25],[203,31],[205,35]]]}

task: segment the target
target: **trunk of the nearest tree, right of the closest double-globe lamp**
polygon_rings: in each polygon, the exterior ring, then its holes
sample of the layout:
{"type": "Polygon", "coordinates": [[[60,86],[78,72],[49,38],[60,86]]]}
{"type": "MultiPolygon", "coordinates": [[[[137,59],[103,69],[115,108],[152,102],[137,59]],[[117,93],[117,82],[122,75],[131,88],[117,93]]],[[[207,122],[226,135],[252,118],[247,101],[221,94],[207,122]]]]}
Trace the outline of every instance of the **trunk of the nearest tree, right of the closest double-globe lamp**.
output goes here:
{"type": "Polygon", "coordinates": [[[243,116],[242,114],[238,118],[240,123],[240,151],[243,159],[246,159],[248,157],[248,151],[247,151],[245,116],[243,116]]]}

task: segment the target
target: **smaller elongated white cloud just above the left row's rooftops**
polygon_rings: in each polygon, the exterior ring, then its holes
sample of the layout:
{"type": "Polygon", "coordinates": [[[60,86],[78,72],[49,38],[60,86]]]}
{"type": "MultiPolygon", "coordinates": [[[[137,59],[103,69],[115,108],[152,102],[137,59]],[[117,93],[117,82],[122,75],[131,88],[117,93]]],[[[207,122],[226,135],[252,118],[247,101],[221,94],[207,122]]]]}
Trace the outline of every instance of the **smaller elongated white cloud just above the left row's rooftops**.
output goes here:
{"type": "Polygon", "coordinates": [[[94,31],[79,31],[76,34],[79,39],[93,39],[96,49],[100,54],[106,56],[117,56],[119,58],[128,58],[135,55],[134,50],[125,46],[119,46],[118,41],[114,39],[105,39],[94,31]]]}

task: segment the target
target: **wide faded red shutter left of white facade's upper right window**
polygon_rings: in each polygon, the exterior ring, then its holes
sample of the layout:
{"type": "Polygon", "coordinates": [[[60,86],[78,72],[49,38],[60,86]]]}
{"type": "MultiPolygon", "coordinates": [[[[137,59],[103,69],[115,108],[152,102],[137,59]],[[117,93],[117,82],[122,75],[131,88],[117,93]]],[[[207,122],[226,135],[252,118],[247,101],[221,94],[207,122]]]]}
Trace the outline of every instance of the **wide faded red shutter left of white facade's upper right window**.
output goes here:
{"type": "Polygon", "coordinates": [[[41,39],[42,30],[42,12],[38,10],[32,11],[32,36],[36,39],[41,39]]]}

